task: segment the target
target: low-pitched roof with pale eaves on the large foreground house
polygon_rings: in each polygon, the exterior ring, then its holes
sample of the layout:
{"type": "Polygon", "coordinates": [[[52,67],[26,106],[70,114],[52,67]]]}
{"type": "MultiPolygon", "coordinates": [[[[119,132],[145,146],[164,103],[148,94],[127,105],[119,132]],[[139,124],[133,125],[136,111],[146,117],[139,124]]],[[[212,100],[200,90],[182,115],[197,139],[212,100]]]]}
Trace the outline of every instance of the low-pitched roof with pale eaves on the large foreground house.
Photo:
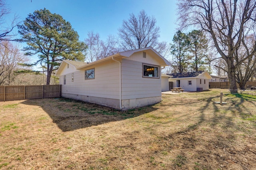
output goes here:
{"type": "Polygon", "coordinates": [[[171,63],[168,62],[168,60],[166,60],[163,56],[161,56],[158,52],[156,52],[156,50],[154,50],[152,47],[146,47],[146,48],[140,48],[140,49],[136,49],[136,50],[130,50],[130,51],[124,51],[124,52],[120,52],[117,54],[114,54],[112,56],[108,56],[106,58],[102,58],[100,60],[94,61],[94,62],[90,62],[90,63],[85,63],[85,62],[76,62],[76,61],[70,61],[70,60],[63,60],[63,62],[60,64],[60,67],[58,68],[56,75],[58,76],[60,74],[60,72],[64,69],[64,62],[73,65],[76,70],[82,70],[88,66],[92,66],[94,64],[98,64],[101,62],[105,62],[106,60],[112,60],[113,58],[126,58],[126,57],[130,57],[132,56],[132,54],[134,54],[135,52],[140,52],[140,51],[147,51],[147,52],[153,52],[154,54],[156,54],[160,60],[162,60],[162,64],[161,66],[170,66],[171,63]]]}

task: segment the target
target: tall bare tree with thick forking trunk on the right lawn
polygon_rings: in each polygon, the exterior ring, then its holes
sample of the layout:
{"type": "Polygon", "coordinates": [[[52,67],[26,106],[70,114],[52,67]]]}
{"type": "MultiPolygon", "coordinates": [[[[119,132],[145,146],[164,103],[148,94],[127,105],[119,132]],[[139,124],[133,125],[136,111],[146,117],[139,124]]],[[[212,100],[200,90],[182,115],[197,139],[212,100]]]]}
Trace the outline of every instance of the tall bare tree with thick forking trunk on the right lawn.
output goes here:
{"type": "Polygon", "coordinates": [[[181,28],[196,26],[207,32],[216,50],[228,66],[230,92],[237,93],[236,68],[249,56],[235,61],[236,51],[249,32],[255,28],[255,0],[180,0],[178,2],[181,28]],[[244,35],[244,37],[243,37],[244,35]]]}

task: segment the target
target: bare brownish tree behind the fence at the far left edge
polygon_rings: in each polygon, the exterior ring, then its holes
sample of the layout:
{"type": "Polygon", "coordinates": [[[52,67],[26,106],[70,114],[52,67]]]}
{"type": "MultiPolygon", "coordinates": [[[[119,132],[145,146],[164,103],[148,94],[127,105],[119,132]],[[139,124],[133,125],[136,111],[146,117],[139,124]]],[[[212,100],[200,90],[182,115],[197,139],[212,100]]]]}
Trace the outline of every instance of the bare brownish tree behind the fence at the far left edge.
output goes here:
{"type": "Polygon", "coordinates": [[[0,85],[10,85],[16,71],[23,69],[20,63],[26,62],[26,57],[20,52],[17,44],[2,41],[0,44],[0,85]]]}

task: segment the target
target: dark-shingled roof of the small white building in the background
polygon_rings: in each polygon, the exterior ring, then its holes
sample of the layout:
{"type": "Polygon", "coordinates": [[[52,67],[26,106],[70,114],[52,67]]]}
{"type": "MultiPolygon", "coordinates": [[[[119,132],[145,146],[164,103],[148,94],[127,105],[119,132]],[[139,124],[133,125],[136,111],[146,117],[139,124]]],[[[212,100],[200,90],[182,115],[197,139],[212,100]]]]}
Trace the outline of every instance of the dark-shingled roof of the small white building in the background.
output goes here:
{"type": "Polygon", "coordinates": [[[212,78],[210,76],[210,74],[206,71],[172,73],[172,74],[168,74],[168,75],[172,76],[172,78],[189,78],[189,77],[202,78],[203,76],[206,76],[207,79],[212,78]]]}

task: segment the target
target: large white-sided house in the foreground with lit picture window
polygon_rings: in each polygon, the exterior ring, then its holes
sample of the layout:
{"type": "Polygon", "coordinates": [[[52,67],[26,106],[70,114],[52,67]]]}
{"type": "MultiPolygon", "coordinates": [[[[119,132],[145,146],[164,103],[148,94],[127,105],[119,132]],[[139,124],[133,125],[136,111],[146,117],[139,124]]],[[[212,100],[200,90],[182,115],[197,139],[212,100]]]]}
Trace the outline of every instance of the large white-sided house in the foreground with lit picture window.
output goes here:
{"type": "Polygon", "coordinates": [[[56,74],[63,97],[127,110],[161,101],[161,67],[168,65],[147,47],[91,63],[63,60],[56,74]]]}

